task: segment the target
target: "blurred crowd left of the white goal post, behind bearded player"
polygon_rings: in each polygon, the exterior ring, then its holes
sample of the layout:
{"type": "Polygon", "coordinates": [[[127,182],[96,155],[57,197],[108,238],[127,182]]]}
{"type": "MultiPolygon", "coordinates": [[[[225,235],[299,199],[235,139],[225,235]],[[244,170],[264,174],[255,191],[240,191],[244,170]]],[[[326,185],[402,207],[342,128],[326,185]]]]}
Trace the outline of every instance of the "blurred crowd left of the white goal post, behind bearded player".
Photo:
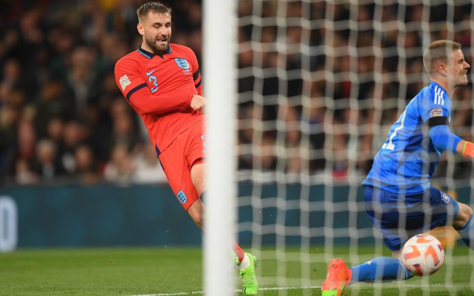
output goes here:
{"type": "MultiPolygon", "coordinates": [[[[1,179],[166,182],[121,95],[118,59],[136,50],[142,1],[17,1],[0,15],[1,179]]],[[[200,4],[173,1],[175,42],[200,54],[200,4]]]]}

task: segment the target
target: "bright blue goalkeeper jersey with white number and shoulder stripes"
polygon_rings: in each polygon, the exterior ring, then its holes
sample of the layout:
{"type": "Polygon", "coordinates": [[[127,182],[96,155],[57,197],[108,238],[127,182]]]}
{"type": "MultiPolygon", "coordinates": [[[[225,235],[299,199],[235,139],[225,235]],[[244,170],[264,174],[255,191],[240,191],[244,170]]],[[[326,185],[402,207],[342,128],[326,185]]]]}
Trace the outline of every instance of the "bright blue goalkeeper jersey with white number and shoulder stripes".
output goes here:
{"type": "Polygon", "coordinates": [[[451,100],[446,90],[432,81],[408,103],[392,125],[362,184],[404,194],[428,189],[443,151],[433,145],[426,121],[438,116],[450,118],[450,115],[451,100]]]}

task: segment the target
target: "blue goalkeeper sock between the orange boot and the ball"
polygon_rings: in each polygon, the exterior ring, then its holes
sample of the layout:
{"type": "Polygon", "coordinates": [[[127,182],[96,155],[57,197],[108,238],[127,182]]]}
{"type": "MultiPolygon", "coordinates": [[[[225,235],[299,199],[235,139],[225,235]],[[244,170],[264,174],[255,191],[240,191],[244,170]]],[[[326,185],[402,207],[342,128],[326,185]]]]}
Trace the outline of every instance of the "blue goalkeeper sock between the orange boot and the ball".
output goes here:
{"type": "Polygon", "coordinates": [[[403,281],[413,277],[405,265],[395,258],[378,257],[350,268],[352,269],[351,284],[376,280],[403,281]]]}

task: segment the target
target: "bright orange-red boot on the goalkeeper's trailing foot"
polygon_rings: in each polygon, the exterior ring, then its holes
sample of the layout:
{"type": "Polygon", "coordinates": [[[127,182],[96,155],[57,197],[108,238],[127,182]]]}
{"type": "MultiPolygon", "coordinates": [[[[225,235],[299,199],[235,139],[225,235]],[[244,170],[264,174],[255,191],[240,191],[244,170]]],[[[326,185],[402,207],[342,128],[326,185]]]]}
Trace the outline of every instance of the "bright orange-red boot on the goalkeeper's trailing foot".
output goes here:
{"type": "Polygon", "coordinates": [[[342,259],[332,259],[327,266],[327,277],[322,282],[321,296],[339,296],[351,282],[352,270],[342,259]]]}

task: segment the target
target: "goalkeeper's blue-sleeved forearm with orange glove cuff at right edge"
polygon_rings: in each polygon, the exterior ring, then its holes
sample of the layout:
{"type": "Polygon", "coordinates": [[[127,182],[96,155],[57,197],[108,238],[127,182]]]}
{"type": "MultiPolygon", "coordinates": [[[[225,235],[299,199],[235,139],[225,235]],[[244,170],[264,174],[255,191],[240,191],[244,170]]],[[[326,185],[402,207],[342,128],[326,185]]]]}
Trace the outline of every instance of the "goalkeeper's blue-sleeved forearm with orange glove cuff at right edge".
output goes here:
{"type": "Polygon", "coordinates": [[[453,151],[465,157],[474,157],[474,143],[464,141],[451,133],[447,125],[436,125],[430,128],[433,145],[443,151],[453,151]]]}

